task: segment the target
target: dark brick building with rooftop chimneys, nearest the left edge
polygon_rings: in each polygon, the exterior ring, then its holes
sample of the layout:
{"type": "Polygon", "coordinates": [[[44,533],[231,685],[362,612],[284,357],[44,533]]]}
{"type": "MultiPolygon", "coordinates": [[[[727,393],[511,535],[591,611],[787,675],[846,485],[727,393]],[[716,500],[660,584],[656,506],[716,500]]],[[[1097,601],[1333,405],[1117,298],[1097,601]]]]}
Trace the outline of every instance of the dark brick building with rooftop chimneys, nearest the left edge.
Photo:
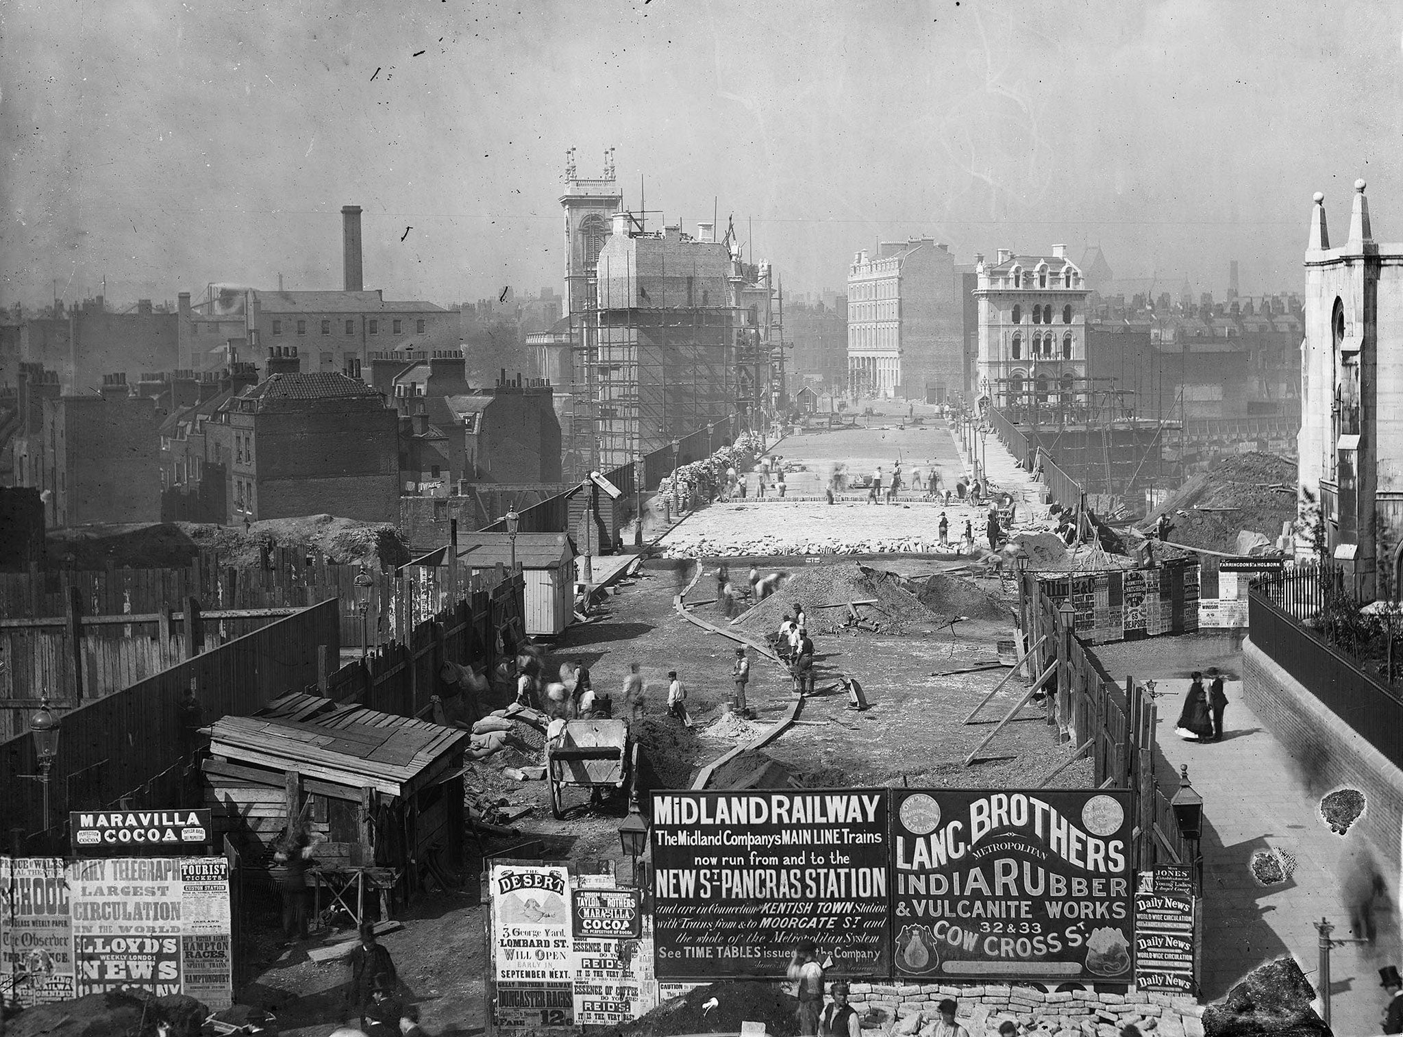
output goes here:
{"type": "Polygon", "coordinates": [[[43,392],[56,380],[34,372],[24,406],[35,434],[14,445],[17,486],[39,490],[51,526],[157,522],[161,515],[160,422],[156,400],[135,396],[126,375],[104,375],[100,393],[43,392]],[[34,392],[39,390],[39,392],[34,392]]]}

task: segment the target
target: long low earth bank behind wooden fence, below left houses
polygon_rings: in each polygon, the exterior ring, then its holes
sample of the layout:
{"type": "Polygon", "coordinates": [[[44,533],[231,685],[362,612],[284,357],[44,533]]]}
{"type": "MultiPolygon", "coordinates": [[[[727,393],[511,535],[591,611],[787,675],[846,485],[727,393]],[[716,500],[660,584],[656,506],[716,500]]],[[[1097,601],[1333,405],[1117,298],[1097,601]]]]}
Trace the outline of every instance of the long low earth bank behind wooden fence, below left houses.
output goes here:
{"type": "Polygon", "coordinates": [[[331,563],[372,568],[410,560],[408,544],[394,526],[331,515],[264,519],[247,532],[203,522],[153,522],[60,529],[48,537],[49,556],[77,568],[185,566],[201,551],[217,554],[220,566],[254,568],[264,546],[311,550],[331,563]]]}

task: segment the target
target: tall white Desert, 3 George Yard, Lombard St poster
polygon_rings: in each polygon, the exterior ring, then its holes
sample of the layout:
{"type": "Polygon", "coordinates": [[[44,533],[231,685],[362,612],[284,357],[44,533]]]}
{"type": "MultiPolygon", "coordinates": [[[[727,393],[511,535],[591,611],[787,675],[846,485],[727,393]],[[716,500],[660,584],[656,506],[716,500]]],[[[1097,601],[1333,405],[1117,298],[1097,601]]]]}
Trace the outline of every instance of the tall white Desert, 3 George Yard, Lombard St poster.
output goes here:
{"type": "Polygon", "coordinates": [[[554,864],[492,864],[494,1015],[499,1033],[574,1029],[574,942],[570,870],[554,864]]]}

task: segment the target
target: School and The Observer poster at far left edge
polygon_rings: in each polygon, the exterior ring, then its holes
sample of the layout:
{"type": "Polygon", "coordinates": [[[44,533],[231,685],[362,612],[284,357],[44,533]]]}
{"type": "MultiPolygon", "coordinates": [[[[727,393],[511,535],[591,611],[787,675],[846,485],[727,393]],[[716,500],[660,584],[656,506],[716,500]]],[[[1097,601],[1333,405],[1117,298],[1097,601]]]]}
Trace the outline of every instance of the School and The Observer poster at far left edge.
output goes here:
{"type": "Polygon", "coordinates": [[[73,996],[73,929],[60,857],[0,857],[0,999],[73,996]]]}

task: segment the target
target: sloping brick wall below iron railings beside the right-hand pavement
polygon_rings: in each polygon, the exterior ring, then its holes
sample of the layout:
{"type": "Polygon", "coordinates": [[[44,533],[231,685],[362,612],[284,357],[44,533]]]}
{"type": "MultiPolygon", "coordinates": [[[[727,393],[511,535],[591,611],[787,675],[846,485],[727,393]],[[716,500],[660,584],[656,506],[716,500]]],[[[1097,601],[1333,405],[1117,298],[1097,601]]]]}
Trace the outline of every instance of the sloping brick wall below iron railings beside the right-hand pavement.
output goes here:
{"type": "Polygon", "coordinates": [[[1312,794],[1341,786],[1362,791],[1364,815],[1350,829],[1362,836],[1389,883],[1393,902],[1400,894],[1403,832],[1403,770],[1369,745],[1251,640],[1242,645],[1242,695],[1253,713],[1301,766],[1312,794]]]}

